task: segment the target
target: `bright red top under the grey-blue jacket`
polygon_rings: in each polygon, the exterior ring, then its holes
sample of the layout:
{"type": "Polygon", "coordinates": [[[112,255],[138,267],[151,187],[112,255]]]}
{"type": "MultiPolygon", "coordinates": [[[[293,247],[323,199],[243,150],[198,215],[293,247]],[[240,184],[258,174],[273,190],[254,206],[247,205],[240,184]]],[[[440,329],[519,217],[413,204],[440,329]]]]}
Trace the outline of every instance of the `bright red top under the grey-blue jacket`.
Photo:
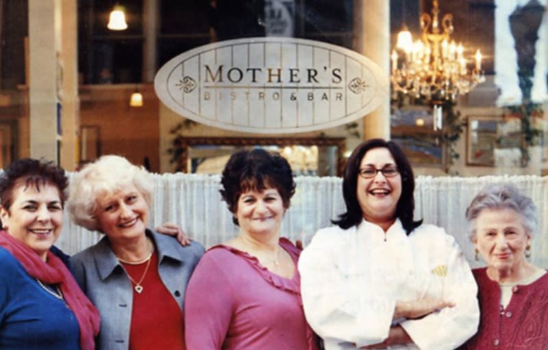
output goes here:
{"type": "MultiPolygon", "coordinates": [[[[145,273],[147,262],[139,265],[122,263],[125,271],[139,282],[145,273]]],[[[181,309],[158,273],[158,253],[152,254],[142,292],[133,288],[132,325],[129,331],[130,350],[185,349],[184,323],[181,309]]]]}

